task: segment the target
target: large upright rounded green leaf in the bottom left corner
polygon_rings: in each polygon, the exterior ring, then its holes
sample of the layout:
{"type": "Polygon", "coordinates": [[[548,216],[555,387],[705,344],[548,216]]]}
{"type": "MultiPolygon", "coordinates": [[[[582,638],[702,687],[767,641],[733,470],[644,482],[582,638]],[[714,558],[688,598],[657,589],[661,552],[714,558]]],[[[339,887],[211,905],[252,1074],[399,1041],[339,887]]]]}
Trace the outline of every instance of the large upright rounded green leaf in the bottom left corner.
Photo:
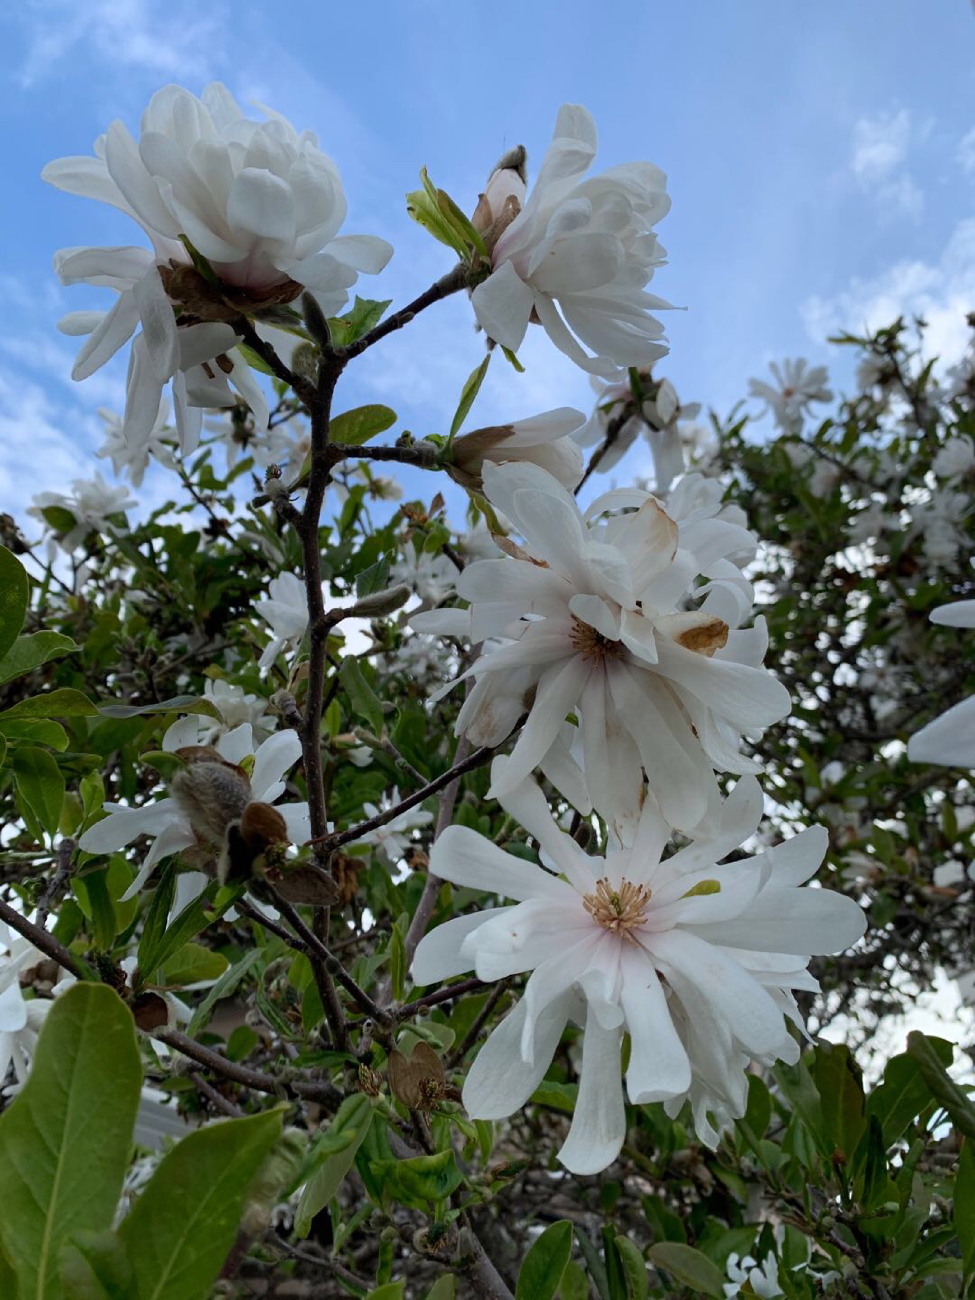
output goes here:
{"type": "Polygon", "coordinates": [[[104,984],[69,988],[47,1015],[23,1091],[0,1115],[0,1248],[23,1300],[57,1295],[61,1247],[110,1225],[140,1087],[127,1008],[104,984]]]}

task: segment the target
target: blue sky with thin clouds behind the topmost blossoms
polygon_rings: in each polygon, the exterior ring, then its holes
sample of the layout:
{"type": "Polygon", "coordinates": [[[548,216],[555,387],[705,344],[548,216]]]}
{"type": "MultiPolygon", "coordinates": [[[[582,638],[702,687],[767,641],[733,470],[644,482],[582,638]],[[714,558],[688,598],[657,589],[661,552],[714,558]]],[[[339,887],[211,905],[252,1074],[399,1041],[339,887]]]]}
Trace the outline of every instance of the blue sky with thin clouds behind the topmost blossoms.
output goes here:
{"type": "MultiPolygon", "coordinates": [[[[595,117],[597,169],[650,159],[668,173],[673,207],[659,233],[671,261],[653,290],[686,311],[666,316],[671,356],[658,373],[685,400],[727,411],[783,355],[833,360],[842,385],[846,359],[826,334],[898,311],[926,312],[946,355],[965,344],[970,0],[27,0],[4,6],[0,39],[0,508],[21,519],[34,491],[107,469],[94,458],[95,408],[122,403],[122,364],[70,380],[74,341],[55,322],[98,299],[61,290],[51,254],[135,240],[118,214],[44,186],[40,168],[88,152],[114,117],[135,129],[168,81],[195,92],[224,81],[242,103],[317,131],[342,170],[346,231],[396,250],[381,277],[360,281],[367,296],[402,304],[450,265],[404,212],[422,164],[469,209],[504,148],[525,143],[537,166],[559,104],[573,100],[595,117]]],[[[455,299],[350,368],[339,404],[386,402],[415,433],[446,432],[481,348],[455,299]]],[[[540,329],[523,360],[516,376],[495,358],[473,424],[588,410],[586,377],[540,329]]],[[[646,469],[644,455],[615,477],[646,469]]],[[[147,478],[136,495],[160,490],[147,478]]]]}

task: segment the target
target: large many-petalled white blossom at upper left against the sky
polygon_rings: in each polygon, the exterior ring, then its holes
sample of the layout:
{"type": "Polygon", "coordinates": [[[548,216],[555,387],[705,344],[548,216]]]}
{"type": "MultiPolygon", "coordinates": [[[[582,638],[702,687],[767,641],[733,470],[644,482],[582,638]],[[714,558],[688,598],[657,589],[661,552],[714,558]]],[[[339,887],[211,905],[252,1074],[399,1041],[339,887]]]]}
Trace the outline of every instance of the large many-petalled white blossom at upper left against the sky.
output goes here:
{"type": "Polygon", "coordinates": [[[228,377],[260,424],[266,407],[233,329],[199,296],[186,237],[231,291],[239,311],[290,302],[302,287],[325,315],[347,302],[358,273],[378,272],[393,250],[368,235],[339,237],[346,199],[335,164],[311,131],[300,135],[272,109],[244,117],[225,86],[196,99],[179,86],[157,91],[143,113],[138,142],[121,121],[95,142],[94,157],[49,162],[46,181],[100,199],[133,217],[152,243],[68,248],[56,255],[62,283],[114,289],[107,313],[73,313],[66,333],[88,334],[74,378],[94,373],[142,325],[133,347],[126,436],[148,437],[162,386],[173,380],[177,429],[185,451],[199,439],[200,407],[231,406],[228,377]],[[183,277],[179,280],[179,277],[183,277]],[[196,287],[192,287],[196,286],[196,287]],[[177,326],[173,306],[192,321],[177,326]]]}

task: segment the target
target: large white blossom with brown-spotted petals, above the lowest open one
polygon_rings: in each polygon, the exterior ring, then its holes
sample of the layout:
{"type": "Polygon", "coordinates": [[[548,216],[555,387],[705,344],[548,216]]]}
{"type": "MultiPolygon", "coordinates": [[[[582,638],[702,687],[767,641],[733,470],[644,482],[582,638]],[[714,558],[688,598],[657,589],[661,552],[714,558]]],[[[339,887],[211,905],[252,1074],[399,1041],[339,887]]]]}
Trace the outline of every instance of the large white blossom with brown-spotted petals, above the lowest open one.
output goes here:
{"type": "Polygon", "coordinates": [[[464,673],[476,684],[456,723],[476,745],[499,745],[528,710],[491,796],[542,766],[572,800],[564,763],[549,760],[564,750],[563,722],[575,712],[593,806],[618,828],[632,823],[642,766],[663,815],[690,831],[718,796],[712,767],[760,771],[738,753],[741,733],[789,711],[785,688],[760,667],[764,624],[734,630],[753,593],[732,558],[754,554],[753,536],[723,510],[720,486],[699,476],[672,494],[672,515],[632,490],[606,494],[584,516],[537,465],[488,464],[484,481],[525,547],[508,540],[504,558],[467,566],[458,594],[468,610],[411,621],[500,642],[464,673]],[[599,521],[615,507],[636,508],[599,521]],[[696,588],[698,575],[708,581],[696,588]],[[698,608],[685,608],[690,597],[698,608]]]}

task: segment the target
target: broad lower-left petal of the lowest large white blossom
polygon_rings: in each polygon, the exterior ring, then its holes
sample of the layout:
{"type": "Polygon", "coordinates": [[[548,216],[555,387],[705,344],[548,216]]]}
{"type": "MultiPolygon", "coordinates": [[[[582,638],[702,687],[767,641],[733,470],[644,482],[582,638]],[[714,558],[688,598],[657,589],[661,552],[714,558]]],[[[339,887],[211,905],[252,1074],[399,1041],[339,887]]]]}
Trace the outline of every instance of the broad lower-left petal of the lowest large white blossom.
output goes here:
{"type": "Polygon", "coordinates": [[[521,1057],[526,1008],[519,1002],[481,1048],[464,1080],[464,1109],[472,1119],[504,1119],[528,1101],[545,1078],[566,1028],[575,997],[554,998],[534,1027],[534,1056],[521,1057]]]}

